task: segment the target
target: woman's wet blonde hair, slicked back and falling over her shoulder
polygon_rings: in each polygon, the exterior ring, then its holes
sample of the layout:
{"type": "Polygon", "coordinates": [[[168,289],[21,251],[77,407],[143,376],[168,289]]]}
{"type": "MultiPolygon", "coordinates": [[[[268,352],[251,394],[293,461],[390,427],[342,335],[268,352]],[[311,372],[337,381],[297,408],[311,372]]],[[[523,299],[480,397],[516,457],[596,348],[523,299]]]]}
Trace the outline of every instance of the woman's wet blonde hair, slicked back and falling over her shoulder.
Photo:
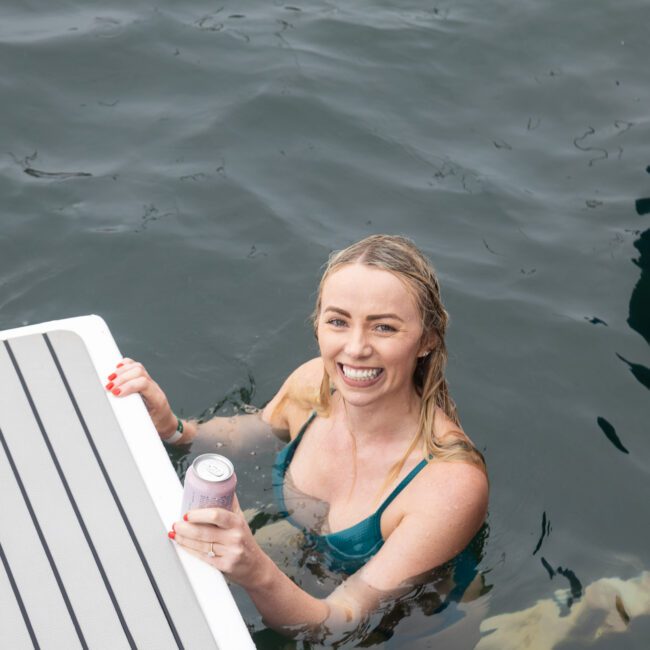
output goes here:
{"type": "MultiPolygon", "coordinates": [[[[440,286],[431,263],[410,239],[395,235],[371,235],[332,253],[318,287],[316,308],[312,315],[316,336],[325,282],[334,272],[350,264],[363,264],[388,271],[404,282],[415,298],[422,319],[421,343],[431,346],[428,354],[418,357],[413,373],[415,390],[421,398],[417,432],[404,456],[391,468],[386,484],[397,478],[418,444],[422,445],[425,458],[471,463],[485,472],[483,455],[460,431],[456,404],[449,395],[445,380],[445,332],[449,315],[442,304],[440,286]],[[459,427],[457,433],[448,433],[443,438],[436,435],[437,409],[441,409],[459,427]]],[[[314,406],[319,413],[325,415],[329,412],[330,399],[331,381],[324,370],[320,392],[314,399],[314,406]]]]}

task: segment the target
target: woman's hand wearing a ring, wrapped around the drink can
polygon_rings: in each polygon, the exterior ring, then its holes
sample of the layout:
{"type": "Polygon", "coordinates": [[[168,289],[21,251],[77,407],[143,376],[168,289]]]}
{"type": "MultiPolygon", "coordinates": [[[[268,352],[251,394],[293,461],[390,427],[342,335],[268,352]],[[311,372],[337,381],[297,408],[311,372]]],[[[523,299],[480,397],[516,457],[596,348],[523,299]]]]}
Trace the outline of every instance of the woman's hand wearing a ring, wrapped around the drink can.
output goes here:
{"type": "Polygon", "coordinates": [[[224,508],[190,510],[174,523],[169,537],[198,558],[249,588],[264,579],[272,563],[253,538],[237,497],[233,511],[224,508]]]}

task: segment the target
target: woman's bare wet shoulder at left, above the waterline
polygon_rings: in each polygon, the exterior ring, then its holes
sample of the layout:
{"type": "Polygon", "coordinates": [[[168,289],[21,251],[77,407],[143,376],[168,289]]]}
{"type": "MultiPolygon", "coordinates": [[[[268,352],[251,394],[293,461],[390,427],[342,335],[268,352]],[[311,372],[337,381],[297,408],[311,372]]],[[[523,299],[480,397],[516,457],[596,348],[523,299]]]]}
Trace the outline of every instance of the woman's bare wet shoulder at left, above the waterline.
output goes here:
{"type": "Polygon", "coordinates": [[[296,427],[313,409],[322,378],[323,361],[320,357],[298,366],[264,407],[262,418],[274,428],[289,430],[293,437],[296,427]]]}

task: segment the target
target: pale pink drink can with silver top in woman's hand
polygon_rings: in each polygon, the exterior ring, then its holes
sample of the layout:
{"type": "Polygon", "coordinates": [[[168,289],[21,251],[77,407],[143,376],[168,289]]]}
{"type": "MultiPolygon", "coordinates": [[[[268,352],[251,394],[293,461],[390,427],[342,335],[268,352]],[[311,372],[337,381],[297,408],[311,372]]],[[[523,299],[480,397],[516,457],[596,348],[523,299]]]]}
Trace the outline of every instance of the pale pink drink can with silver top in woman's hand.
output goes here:
{"type": "Polygon", "coordinates": [[[235,468],[225,456],[197,456],[185,473],[181,515],[196,508],[232,510],[236,485],[235,468]]]}

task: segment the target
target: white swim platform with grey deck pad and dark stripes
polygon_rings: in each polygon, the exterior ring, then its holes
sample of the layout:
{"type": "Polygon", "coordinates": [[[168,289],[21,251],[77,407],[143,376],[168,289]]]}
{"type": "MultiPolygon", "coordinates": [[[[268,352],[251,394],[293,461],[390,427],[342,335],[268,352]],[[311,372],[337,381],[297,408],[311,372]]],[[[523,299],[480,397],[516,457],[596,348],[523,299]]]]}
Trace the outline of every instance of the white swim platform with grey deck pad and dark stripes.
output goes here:
{"type": "Polygon", "coordinates": [[[0,332],[0,646],[254,648],[223,576],[167,538],[182,489],[97,316],[0,332]]]}

